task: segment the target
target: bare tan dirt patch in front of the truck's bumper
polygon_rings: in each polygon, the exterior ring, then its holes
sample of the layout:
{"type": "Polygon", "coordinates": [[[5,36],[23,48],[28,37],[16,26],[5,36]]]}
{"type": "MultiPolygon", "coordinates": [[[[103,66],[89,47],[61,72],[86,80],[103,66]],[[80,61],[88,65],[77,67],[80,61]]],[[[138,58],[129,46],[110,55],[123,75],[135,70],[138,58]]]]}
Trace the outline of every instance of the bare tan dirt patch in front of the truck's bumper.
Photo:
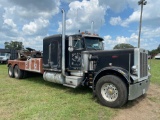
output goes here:
{"type": "Polygon", "coordinates": [[[118,111],[113,120],[160,120],[160,86],[151,84],[146,95],[118,111]]]}

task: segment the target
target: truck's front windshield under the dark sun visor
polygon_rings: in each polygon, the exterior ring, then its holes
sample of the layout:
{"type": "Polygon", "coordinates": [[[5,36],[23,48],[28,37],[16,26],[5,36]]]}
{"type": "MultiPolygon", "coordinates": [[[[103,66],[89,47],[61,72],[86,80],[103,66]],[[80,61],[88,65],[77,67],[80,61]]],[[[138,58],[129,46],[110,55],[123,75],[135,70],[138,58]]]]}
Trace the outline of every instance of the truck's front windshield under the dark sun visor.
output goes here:
{"type": "Polygon", "coordinates": [[[103,42],[100,38],[86,37],[85,45],[87,49],[103,50],[103,42]]]}

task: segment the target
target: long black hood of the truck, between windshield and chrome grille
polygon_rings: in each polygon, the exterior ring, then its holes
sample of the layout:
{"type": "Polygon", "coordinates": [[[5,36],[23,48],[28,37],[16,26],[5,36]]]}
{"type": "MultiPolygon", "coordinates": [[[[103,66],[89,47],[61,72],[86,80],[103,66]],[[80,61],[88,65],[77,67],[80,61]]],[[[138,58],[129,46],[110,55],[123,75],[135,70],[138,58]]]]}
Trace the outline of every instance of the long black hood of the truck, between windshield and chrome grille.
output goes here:
{"type": "Polygon", "coordinates": [[[84,51],[91,56],[97,57],[96,69],[99,71],[104,67],[122,67],[129,70],[129,64],[134,64],[134,49],[123,50],[103,50],[103,51],[84,51]],[[130,61],[129,61],[129,56],[130,61]]]}

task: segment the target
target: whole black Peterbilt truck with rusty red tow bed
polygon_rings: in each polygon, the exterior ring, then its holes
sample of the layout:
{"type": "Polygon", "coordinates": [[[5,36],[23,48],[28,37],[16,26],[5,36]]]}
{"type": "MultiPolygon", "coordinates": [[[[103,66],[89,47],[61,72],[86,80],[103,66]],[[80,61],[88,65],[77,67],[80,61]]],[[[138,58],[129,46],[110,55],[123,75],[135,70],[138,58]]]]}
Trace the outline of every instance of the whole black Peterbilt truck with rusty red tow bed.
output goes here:
{"type": "Polygon", "coordinates": [[[30,71],[43,74],[45,81],[67,87],[88,86],[107,107],[121,107],[138,98],[150,84],[147,50],[104,50],[103,38],[98,35],[65,35],[65,27],[62,34],[43,39],[43,56],[31,57],[22,52],[18,56],[8,61],[10,77],[22,79],[30,71]]]}

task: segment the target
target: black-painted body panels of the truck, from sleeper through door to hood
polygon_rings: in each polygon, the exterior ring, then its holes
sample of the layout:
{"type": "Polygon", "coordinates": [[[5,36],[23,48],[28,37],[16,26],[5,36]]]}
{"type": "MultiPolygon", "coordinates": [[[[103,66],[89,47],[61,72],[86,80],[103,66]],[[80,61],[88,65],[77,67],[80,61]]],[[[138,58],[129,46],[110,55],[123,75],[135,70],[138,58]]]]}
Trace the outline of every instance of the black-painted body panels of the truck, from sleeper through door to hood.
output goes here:
{"type": "MultiPolygon", "coordinates": [[[[65,36],[65,69],[81,70],[81,55],[85,51],[92,56],[97,57],[95,62],[94,73],[100,71],[105,67],[121,67],[129,71],[129,64],[133,66],[134,64],[134,49],[124,49],[124,50],[89,50],[80,49],[68,51],[68,36],[65,36]],[[130,58],[129,58],[130,56],[130,58]],[[130,59],[130,60],[129,60],[130,59]],[[130,61],[130,63],[129,63],[130,61]]],[[[53,35],[46,37],[43,40],[43,68],[56,69],[61,71],[62,68],[62,35],[53,35]],[[51,45],[51,52],[49,52],[49,46],[51,45]],[[51,54],[51,56],[49,55],[51,54]],[[50,60],[49,60],[50,56],[50,60]]]]}

